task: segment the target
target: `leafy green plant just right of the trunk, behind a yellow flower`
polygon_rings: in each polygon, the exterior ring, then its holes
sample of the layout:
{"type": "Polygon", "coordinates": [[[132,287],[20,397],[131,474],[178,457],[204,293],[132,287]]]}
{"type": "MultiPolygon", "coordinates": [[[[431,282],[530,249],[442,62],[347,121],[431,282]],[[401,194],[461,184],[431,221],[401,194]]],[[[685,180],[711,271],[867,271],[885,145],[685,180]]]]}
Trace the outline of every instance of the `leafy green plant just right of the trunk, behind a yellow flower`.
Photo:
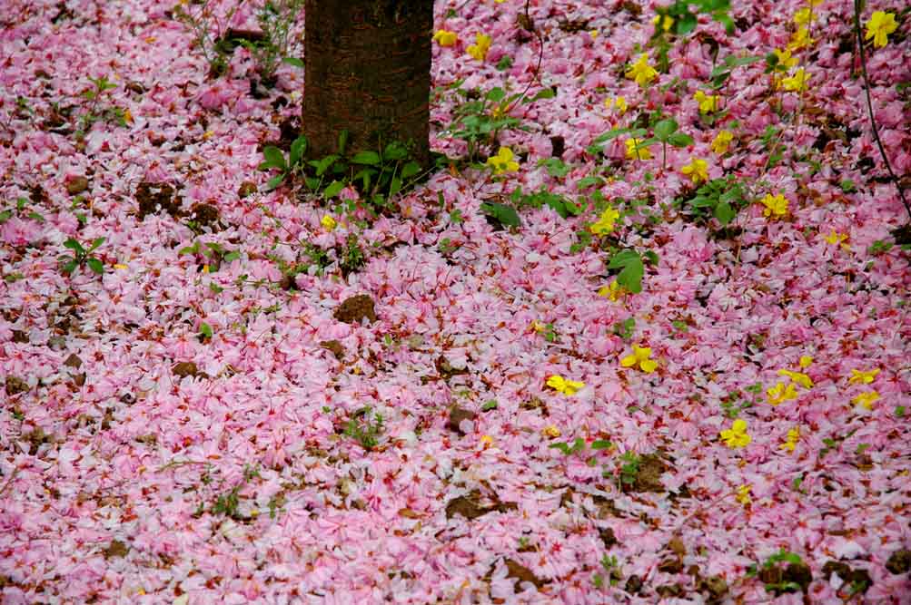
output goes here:
{"type": "MultiPolygon", "coordinates": [[[[461,84],[462,81],[455,82],[450,88],[461,84]]],[[[453,123],[440,134],[465,141],[468,145],[468,162],[475,162],[478,159],[478,152],[482,146],[496,146],[497,137],[502,131],[512,128],[527,130],[526,126],[521,126],[517,117],[509,116],[509,111],[514,106],[528,105],[538,99],[554,96],[554,91],[550,88],[540,90],[535,96],[525,96],[524,93],[507,95],[499,86],[483,94],[477,89],[463,88],[456,88],[456,93],[466,100],[455,107],[453,123]]]]}

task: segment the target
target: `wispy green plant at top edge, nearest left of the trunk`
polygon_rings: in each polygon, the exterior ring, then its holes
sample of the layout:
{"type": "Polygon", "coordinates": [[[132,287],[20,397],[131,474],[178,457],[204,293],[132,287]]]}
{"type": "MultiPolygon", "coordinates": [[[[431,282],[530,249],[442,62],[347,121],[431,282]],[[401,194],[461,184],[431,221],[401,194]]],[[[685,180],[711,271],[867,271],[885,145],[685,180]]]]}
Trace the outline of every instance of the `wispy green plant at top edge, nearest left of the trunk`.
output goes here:
{"type": "Polygon", "coordinates": [[[241,40],[241,45],[253,56],[261,82],[266,86],[274,84],[275,72],[282,61],[302,66],[300,59],[287,55],[291,28],[303,4],[303,0],[266,0],[256,14],[262,30],[261,39],[241,40]]]}

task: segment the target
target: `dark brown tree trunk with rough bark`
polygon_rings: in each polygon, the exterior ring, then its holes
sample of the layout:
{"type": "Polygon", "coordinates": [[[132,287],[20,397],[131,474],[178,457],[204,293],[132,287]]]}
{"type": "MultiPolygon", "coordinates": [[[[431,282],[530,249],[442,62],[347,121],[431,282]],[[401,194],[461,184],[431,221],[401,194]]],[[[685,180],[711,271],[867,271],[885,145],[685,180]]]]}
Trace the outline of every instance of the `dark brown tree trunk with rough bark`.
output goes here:
{"type": "Polygon", "coordinates": [[[433,0],[307,0],[303,133],[308,156],[412,143],[429,156],[433,0]]]}

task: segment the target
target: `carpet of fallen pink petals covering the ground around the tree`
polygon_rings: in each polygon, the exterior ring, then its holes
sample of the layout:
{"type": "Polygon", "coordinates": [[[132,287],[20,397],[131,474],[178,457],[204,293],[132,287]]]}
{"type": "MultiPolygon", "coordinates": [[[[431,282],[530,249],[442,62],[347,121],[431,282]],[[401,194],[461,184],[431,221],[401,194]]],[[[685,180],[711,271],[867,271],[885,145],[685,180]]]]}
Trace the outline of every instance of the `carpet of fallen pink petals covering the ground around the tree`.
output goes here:
{"type": "MultiPolygon", "coordinates": [[[[545,37],[540,80],[557,94],[513,111],[529,129],[500,144],[518,170],[435,174],[400,200],[401,215],[358,232],[362,269],[343,278],[332,265],[286,290],[279,259],[357,229],[339,214],[327,230],[328,207],[287,187],[267,192],[257,170],[261,143],[299,111],[302,70],[281,66],[258,99],[247,51],[208,77],[169,3],[5,0],[0,210],[19,197],[28,205],[0,225],[0,600],[840,603],[850,587],[823,570],[834,560],[868,573],[855,602],[911,602],[908,574],[885,565],[911,548],[911,271],[900,247],[869,250],[906,215],[865,115],[851,5],[814,6],[814,46],[795,53],[811,75],[803,96],[774,91],[764,62],[732,71],[720,94],[740,126],[722,156],[711,150],[722,125],[706,126],[693,99],[707,90],[709,40],[722,57],[764,56],[788,43],[803,5],[737,2],[734,35],[701,15],[646,91],[624,76],[655,27],[654,6],[639,14],[634,4],[531,2],[545,37]],[[572,21],[584,27],[560,27],[572,21]],[[117,85],[109,104],[128,110],[127,123],[99,121],[77,142],[47,121],[55,107],[74,106],[73,119],[85,111],[89,76],[117,85]],[[675,77],[681,88],[659,93],[675,77]],[[605,105],[617,96],[626,114],[605,105]],[[760,137],[780,121],[779,99],[812,110],[782,125],[785,160],[769,168],[760,137]],[[658,101],[694,137],[669,149],[667,169],[660,147],[655,159],[626,160],[621,139],[607,158],[586,153],[658,101]],[[793,158],[813,150],[822,116],[854,132],[814,150],[812,169],[793,158]],[[560,136],[563,178],[537,164],[560,136]],[[693,157],[711,177],[783,194],[787,215],[767,217],[756,200],[737,218],[739,237],[712,237],[670,206],[689,187],[680,168],[693,157]],[[616,300],[599,296],[611,277],[598,237],[569,249],[597,217],[527,209],[510,231],[479,212],[515,187],[576,198],[578,180],[606,161],[619,166],[607,199],[648,186],[663,217],[648,229],[618,221],[626,244],[659,263],[641,293],[616,300]],[[74,203],[67,186],[83,176],[74,203]],[[197,236],[166,212],[140,219],[144,181],[177,187],[184,210],[217,207],[225,228],[197,236]],[[244,181],[259,190],[240,197],[244,181]],[[462,222],[449,220],[454,210],[462,222]],[[831,243],[833,232],[846,237],[831,243]],[[106,238],[95,252],[103,276],[61,273],[68,237],[106,238]],[[239,257],[207,271],[202,257],[179,254],[196,239],[239,257]],[[374,323],[333,317],[356,294],[374,298],[374,323]],[[624,338],[615,326],[629,318],[624,338]],[[203,323],[211,338],[199,337],[203,323]],[[320,344],[333,339],[343,360],[320,344]],[[651,349],[655,371],[620,364],[632,345],[651,349]],[[197,376],[175,373],[187,362],[197,376]],[[552,376],[585,386],[564,394],[548,387],[552,376]],[[772,405],[767,389],[779,382],[795,397],[772,405]],[[754,404],[738,416],[743,447],[721,435],[732,429],[722,408],[732,391],[754,404]],[[872,391],[878,398],[858,398],[872,391]],[[496,408],[482,411],[490,400],[496,408]],[[364,406],[385,418],[369,451],[342,430],[364,406]],[[454,407],[475,417],[453,426],[454,407]],[[583,453],[548,447],[577,438],[583,453]],[[596,439],[613,447],[589,449],[596,439]],[[627,452],[664,461],[660,489],[623,483],[627,452]],[[232,490],[237,510],[220,514],[232,490]],[[469,499],[486,514],[447,514],[469,499]],[[812,571],[805,594],[773,596],[748,574],[781,550],[812,571]],[[719,579],[725,590],[707,588],[719,579]]],[[[877,0],[865,18],[900,4],[877,0]]],[[[466,88],[520,92],[539,48],[517,25],[524,5],[437,2],[435,28],[458,40],[435,43],[434,86],[465,78],[466,88]],[[492,39],[484,62],[466,53],[477,33],[492,39]],[[497,69],[504,55],[513,64],[497,69]]],[[[867,47],[900,177],[911,175],[911,111],[896,89],[911,80],[904,20],[888,45],[867,47]]],[[[455,98],[432,106],[432,146],[452,157],[465,150],[443,133],[455,98]]]]}

